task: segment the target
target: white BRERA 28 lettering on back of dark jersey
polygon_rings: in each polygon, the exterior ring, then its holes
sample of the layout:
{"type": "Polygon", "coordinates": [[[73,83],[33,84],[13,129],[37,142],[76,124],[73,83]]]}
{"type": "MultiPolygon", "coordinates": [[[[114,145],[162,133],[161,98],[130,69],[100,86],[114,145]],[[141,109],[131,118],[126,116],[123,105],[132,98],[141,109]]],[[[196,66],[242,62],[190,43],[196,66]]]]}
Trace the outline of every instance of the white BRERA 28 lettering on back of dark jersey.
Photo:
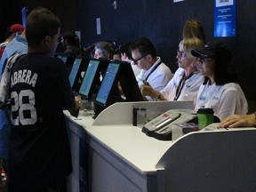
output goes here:
{"type": "Polygon", "coordinates": [[[20,69],[12,73],[11,90],[15,84],[28,85],[28,89],[11,92],[11,122],[13,125],[36,124],[35,93],[29,87],[36,86],[37,76],[38,74],[28,69],[20,69]]]}

